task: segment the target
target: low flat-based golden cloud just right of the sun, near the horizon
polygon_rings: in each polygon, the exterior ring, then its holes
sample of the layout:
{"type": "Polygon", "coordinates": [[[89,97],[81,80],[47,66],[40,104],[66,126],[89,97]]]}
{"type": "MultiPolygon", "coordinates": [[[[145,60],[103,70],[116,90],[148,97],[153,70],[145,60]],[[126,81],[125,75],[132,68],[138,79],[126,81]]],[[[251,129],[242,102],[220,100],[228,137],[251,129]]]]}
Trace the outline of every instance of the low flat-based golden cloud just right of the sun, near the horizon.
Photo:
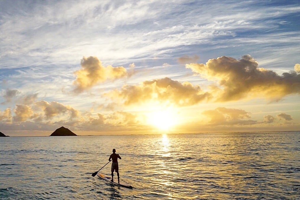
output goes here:
{"type": "Polygon", "coordinates": [[[211,125],[252,125],[257,121],[250,120],[250,114],[245,110],[217,107],[214,110],[202,112],[211,125]]]}

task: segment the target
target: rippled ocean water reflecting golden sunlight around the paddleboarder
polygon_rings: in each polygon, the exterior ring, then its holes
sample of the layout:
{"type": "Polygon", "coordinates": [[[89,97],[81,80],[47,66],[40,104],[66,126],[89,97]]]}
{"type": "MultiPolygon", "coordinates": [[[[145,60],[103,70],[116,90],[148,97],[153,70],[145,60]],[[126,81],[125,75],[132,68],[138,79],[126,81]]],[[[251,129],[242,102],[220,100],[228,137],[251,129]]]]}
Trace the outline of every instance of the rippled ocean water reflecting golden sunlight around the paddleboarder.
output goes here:
{"type": "Polygon", "coordinates": [[[0,147],[0,199],[300,199],[300,132],[1,137],[0,147]],[[113,148],[134,189],[91,176],[113,148]]]}

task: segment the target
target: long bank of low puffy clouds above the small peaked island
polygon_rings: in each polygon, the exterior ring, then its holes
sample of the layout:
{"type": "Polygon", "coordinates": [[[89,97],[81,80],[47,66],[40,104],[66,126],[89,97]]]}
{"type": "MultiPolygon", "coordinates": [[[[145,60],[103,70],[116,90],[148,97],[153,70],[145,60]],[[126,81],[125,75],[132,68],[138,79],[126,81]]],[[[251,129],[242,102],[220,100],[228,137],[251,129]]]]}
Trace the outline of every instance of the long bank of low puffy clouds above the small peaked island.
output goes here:
{"type": "Polygon", "coordinates": [[[141,125],[138,116],[132,113],[116,111],[106,114],[97,113],[96,116],[92,116],[91,113],[79,115],[78,110],[56,101],[36,101],[31,105],[16,104],[13,113],[12,116],[9,108],[0,111],[1,127],[12,126],[8,128],[9,130],[15,130],[17,126],[22,126],[22,130],[38,127],[52,130],[59,125],[67,125],[86,131],[120,131],[120,127],[122,130],[132,131],[144,126],[141,125]]]}

